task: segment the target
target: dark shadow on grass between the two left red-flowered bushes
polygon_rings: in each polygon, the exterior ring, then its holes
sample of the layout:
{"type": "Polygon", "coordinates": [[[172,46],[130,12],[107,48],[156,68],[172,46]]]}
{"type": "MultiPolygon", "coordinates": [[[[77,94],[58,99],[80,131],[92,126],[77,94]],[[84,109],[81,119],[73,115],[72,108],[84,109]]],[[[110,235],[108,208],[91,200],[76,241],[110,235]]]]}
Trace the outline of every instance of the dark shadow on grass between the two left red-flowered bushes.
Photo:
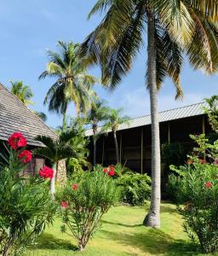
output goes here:
{"type": "Polygon", "coordinates": [[[52,250],[68,250],[77,251],[77,247],[74,246],[70,241],[59,239],[56,236],[48,233],[43,233],[37,238],[37,242],[31,246],[32,250],[35,249],[52,249],[52,250]]]}

